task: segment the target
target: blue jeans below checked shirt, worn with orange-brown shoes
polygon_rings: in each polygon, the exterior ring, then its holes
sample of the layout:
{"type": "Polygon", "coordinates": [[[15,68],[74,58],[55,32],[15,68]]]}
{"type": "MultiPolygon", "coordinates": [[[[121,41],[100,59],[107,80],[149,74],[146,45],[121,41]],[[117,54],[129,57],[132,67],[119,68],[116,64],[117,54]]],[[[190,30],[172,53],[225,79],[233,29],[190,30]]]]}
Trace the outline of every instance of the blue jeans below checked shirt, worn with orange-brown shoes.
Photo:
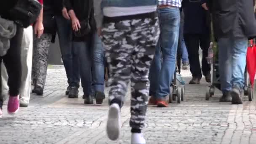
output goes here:
{"type": "Polygon", "coordinates": [[[179,39],[179,8],[160,9],[160,39],[150,68],[150,95],[156,98],[168,96],[176,65],[179,39]],[[161,55],[162,52],[162,55],[161,55]],[[163,63],[161,58],[163,56],[163,63]]]}

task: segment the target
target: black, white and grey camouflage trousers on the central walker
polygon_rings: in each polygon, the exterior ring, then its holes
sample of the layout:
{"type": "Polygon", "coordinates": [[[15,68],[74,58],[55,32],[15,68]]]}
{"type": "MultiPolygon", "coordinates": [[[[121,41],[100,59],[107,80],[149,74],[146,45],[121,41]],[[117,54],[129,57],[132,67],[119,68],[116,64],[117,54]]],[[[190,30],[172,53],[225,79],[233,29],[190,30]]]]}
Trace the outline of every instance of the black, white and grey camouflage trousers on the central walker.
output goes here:
{"type": "Polygon", "coordinates": [[[118,99],[122,107],[131,80],[132,128],[144,128],[149,99],[149,67],[159,34],[157,17],[106,23],[102,27],[110,75],[109,102],[118,99]]]}

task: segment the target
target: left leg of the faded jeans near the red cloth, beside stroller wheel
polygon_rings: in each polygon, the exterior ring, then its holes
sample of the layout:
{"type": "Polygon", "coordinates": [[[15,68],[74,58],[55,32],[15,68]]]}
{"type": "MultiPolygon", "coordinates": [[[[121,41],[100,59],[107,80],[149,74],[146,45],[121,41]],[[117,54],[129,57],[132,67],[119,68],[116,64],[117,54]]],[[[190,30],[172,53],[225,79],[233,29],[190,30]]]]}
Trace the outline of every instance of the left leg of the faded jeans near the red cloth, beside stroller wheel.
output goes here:
{"type": "Polygon", "coordinates": [[[232,89],[232,42],[230,38],[220,38],[219,46],[219,75],[221,82],[221,91],[230,91],[232,89]]]}

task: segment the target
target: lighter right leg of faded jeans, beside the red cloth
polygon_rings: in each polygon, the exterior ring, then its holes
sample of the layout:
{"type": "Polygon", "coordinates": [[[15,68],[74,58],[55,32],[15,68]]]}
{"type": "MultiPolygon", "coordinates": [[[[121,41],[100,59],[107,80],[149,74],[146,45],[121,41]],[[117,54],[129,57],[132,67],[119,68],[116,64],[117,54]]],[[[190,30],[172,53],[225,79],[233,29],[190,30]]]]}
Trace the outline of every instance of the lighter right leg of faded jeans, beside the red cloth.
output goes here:
{"type": "Polygon", "coordinates": [[[244,88],[244,73],[246,66],[246,52],[248,48],[248,38],[234,38],[231,49],[232,56],[232,87],[244,88]]]}

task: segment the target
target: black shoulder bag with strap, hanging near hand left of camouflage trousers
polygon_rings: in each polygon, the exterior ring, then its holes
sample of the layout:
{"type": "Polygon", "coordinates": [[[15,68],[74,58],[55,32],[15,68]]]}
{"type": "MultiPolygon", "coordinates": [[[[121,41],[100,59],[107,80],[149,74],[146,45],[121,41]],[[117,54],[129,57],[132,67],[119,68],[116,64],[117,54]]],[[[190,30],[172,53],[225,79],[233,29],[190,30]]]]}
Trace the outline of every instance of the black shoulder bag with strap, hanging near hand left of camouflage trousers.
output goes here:
{"type": "Polygon", "coordinates": [[[90,26],[90,16],[91,16],[91,6],[88,8],[88,17],[87,19],[80,22],[81,28],[78,29],[78,31],[74,31],[75,37],[84,37],[85,35],[88,35],[91,32],[91,26],[90,26]]]}

